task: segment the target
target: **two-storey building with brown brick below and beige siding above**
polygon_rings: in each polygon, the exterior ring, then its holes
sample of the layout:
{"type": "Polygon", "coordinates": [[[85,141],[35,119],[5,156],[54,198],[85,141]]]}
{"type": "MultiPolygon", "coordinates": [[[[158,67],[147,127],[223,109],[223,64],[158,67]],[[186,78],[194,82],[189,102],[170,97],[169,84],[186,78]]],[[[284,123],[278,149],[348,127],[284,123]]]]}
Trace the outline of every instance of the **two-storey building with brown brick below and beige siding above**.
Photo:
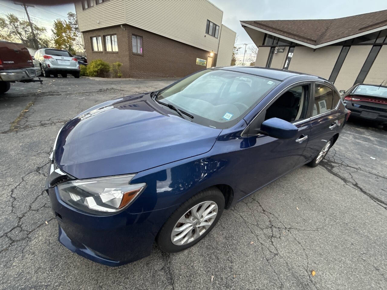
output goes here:
{"type": "Polygon", "coordinates": [[[121,62],[123,77],[184,77],[231,63],[236,33],[207,0],[75,2],[87,60],[121,62]]]}

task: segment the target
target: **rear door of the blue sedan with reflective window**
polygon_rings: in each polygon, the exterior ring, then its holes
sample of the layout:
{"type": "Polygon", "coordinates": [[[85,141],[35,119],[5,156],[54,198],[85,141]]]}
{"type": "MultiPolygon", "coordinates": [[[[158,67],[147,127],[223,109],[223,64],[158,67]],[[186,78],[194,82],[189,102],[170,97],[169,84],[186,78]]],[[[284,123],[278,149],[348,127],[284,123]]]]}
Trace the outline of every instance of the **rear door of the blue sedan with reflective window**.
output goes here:
{"type": "Polygon", "coordinates": [[[324,145],[338,132],[344,121],[343,114],[337,110],[340,96],[332,86],[323,82],[315,82],[308,116],[311,130],[305,157],[312,160],[324,145]]]}

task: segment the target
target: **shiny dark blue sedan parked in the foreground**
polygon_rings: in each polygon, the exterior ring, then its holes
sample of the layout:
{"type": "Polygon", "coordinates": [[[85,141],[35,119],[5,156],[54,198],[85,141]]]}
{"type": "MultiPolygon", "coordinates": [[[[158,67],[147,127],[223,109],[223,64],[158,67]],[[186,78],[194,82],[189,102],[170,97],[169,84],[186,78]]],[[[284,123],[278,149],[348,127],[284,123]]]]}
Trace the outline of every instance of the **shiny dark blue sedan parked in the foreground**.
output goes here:
{"type": "Polygon", "coordinates": [[[155,240],[187,249],[225,208],[317,166],[347,116],[327,80],[254,67],[206,69],[94,106],[63,126],[51,154],[59,241],[110,266],[149,255],[155,240]]]}

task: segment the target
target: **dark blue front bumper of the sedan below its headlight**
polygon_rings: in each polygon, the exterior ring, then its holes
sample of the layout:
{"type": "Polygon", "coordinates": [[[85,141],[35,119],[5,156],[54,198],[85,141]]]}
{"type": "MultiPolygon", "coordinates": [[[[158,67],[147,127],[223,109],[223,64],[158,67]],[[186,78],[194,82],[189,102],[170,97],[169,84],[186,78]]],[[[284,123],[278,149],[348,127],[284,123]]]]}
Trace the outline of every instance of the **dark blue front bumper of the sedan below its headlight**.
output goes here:
{"type": "Polygon", "coordinates": [[[58,240],[84,258],[107,266],[120,266],[148,256],[172,208],[138,214],[126,210],[97,216],[64,203],[57,187],[46,189],[59,224],[58,240]]]}

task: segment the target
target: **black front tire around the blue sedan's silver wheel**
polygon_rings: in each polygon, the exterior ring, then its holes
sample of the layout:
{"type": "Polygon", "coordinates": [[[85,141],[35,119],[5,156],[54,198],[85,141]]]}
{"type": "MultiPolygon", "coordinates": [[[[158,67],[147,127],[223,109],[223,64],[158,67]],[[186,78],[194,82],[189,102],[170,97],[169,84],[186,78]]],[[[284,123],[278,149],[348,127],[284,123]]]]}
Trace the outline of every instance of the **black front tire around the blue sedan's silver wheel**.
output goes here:
{"type": "Polygon", "coordinates": [[[159,248],[163,252],[180,252],[194,246],[212,230],[221,217],[223,210],[224,196],[218,188],[211,187],[200,191],[180,205],[164,223],[156,237],[159,248]],[[205,206],[205,209],[202,209],[203,206],[205,206]],[[205,214],[206,209],[210,211],[205,214]],[[201,220],[196,220],[196,222],[192,221],[195,217],[192,215],[191,210],[199,213],[200,217],[203,217],[203,215],[211,217],[204,217],[201,220]],[[200,212],[201,210],[202,212],[200,212]],[[182,219],[184,222],[180,223],[179,221],[182,219]],[[190,222],[186,222],[187,220],[190,220],[190,222]],[[200,224],[204,226],[200,226],[200,224]],[[185,225],[187,226],[184,227],[185,225]],[[177,234],[172,236],[172,231],[178,227],[184,227],[184,230],[176,230],[177,234]],[[185,230],[188,230],[188,232],[184,234],[185,230]],[[198,236],[195,237],[195,235],[198,236]],[[172,242],[173,237],[175,237],[174,242],[172,242]]]}

